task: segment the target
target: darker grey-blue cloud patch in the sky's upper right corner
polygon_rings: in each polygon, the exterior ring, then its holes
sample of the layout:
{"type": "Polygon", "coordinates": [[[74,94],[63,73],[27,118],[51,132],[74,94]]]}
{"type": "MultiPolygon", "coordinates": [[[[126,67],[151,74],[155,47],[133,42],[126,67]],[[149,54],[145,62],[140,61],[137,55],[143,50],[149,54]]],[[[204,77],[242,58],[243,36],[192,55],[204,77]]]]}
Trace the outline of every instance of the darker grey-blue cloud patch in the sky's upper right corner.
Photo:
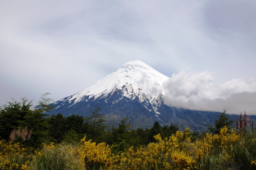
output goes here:
{"type": "Polygon", "coordinates": [[[255,40],[256,2],[252,0],[214,0],[206,3],[205,21],[220,36],[243,35],[255,40]]]}

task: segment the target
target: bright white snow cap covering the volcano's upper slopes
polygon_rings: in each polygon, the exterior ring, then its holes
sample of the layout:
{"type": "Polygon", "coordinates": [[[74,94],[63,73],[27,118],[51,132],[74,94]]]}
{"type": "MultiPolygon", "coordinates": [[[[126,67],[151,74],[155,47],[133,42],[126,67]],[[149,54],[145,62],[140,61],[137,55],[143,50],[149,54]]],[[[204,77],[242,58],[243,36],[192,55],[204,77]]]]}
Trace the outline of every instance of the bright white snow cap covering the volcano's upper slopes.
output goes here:
{"type": "Polygon", "coordinates": [[[91,97],[105,98],[109,93],[113,94],[114,91],[120,89],[123,91],[123,96],[130,99],[138,96],[140,101],[148,98],[151,103],[162,93],[162,83],[167,79],[167,76],[142,61],[129,61],[94,85],[72,95],[68,101],[75,100],[75,104],[82,101],[85,96],[89,96],[89,99],[91,97]]]}

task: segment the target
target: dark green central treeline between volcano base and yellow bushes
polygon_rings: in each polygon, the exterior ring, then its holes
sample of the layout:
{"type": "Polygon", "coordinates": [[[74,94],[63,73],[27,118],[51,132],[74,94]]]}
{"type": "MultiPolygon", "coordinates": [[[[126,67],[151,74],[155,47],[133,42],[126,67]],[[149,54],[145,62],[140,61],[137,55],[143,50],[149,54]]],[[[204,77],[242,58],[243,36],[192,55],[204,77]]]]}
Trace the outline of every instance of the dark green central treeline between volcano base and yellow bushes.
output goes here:
{"type": "MultiPolygon", "coordinates": [[[[51,115],[47,118],[50,123],[51,141],[54,142],[80,142],[84,136],[87,140],[101,143],[105,142],[113,145],[115,152],[124,151],[130,146],[147,145],[150,142],[156,142],[154,136],[161,134],[162,138],[175,134],[179,129],[175,125],[161,127],[155,122],[150,129],[133,129],[129,118],[121,119],[118,127],[107,127],[104,116],[100,113],[100,108],[92,111],[89,117],[71,115],[63,117],[62,114],[51,115]]],[[[198,134],[198,133],[197,133],[198,134]]]]}

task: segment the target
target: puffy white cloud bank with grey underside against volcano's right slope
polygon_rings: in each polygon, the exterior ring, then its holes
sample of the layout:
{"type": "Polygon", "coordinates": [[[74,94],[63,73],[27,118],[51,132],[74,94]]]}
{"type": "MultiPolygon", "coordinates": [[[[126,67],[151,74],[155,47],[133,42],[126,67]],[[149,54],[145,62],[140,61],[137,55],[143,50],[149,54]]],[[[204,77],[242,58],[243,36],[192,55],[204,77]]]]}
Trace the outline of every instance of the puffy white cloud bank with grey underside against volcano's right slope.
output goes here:
{"type": "Polygon", "coordinates": [[[248,81],[231,79],[223,84],[214,83],[214,73],[202,72],[191,75],[182,71],[163,84],[164,103],[174,107],[200,111],[223,111],[239,114],[246,110],[256,115],[256,78],[248,81]]]}

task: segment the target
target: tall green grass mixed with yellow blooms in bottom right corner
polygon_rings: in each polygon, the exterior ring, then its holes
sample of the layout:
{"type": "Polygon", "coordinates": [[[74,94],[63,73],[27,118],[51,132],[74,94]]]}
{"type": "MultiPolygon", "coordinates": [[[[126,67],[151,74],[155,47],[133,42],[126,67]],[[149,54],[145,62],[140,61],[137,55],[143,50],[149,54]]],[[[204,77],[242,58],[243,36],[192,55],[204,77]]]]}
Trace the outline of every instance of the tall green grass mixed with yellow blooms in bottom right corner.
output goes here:
{"type": "Polygon", "coordinates": [[[214,143],[209,154],[198,162],[200,170],[256,170],[256,133],[238,132],[235,142],[220,150],[222,144],[214,143]]]}

